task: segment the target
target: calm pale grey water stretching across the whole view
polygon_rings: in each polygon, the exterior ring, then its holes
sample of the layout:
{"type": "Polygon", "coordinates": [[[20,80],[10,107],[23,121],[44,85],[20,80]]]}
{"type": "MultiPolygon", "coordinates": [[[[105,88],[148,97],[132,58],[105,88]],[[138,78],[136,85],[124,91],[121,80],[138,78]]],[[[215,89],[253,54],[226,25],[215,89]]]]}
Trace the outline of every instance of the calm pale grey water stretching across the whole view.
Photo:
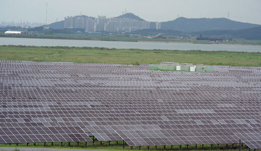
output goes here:
{"type": "Polygon", "coordinates": [[[179,42],[123,42],[98,40],[65,40],[65,39],[31,39],[31,38],[3,38],[0,45],[26,46],[75,46],[75,47],[106,47],[118,49],[163,49],[163,50],[207,50],[207,51],[245,51],[261,52],[261,45],[237,44],[195,44],[179,42]]]}

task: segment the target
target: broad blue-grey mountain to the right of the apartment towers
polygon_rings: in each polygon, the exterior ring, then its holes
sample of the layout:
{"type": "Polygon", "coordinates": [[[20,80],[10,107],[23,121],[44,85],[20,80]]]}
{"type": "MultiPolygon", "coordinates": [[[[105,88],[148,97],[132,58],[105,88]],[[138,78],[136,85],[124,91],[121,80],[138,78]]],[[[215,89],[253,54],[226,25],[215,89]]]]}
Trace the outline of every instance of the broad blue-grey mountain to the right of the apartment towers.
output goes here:
{"type": "Polygon", "coordinates": [[[258,27],[261,25],[232,21],[226,18],[197,18],[184,17],[173,21],[161,22],[161,29],[173,29],[184,32],[209,31],[209,30],[240,30],[258,27]]]}

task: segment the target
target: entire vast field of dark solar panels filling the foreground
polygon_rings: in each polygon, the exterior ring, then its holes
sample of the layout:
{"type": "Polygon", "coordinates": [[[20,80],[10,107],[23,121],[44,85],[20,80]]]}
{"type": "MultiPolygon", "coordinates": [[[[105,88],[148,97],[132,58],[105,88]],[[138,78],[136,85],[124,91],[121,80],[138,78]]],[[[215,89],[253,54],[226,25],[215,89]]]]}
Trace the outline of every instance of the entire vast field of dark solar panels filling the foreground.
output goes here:
{"type": "Polygon", "coordinates": [[[124,140],[130,146],[260,148],[261,67],[0,61],[0,143],[124,140]]]}

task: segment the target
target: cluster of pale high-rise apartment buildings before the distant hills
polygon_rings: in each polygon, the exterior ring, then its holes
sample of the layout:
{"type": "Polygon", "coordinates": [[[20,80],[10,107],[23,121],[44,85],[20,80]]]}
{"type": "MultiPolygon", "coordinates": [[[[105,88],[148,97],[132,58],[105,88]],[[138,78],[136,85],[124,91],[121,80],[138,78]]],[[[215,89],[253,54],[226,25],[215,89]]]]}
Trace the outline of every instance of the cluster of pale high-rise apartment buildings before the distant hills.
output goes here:
{"type": "MultiPolygon", "coordinates": [[[[89,32],[132,32],[139,29],[149,29],[150,23],[129,18],[75,16],[65,17],[64,28],[82,28],[89,32]]],[[[160,29],[159,23],[157,23],[157,28],[160,29]]]]}

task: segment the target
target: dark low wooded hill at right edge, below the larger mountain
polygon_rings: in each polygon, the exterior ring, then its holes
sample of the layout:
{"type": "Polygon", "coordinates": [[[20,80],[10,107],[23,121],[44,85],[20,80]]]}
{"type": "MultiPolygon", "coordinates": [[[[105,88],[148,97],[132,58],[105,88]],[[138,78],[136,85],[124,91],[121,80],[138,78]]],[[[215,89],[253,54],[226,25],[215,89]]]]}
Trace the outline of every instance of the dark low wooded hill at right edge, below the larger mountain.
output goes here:
{"type": "Polygon", "coordinates": [[[220,37],[220,38],[243,38],[248,40],[261,40],[261,26],[241,29],[241,30],[210,30],[210,31],[200,31],[192,32],[190,35],[203,37],[220,37]]]}

